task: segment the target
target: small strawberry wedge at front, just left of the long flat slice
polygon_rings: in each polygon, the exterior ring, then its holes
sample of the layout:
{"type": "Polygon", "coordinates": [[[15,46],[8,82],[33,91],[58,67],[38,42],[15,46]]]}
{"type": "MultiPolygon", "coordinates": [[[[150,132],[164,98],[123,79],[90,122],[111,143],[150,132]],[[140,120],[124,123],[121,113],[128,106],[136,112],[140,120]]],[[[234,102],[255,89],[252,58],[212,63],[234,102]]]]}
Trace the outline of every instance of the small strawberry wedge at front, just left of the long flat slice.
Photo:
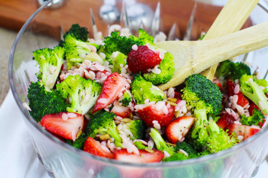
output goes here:
{"type": "Polygon", "coordinates": [[[101,157],[113,158],[113,153],[110,152],[106,146],[102,145],[100,141],[97,141],[92,137],[87,137],[83,151],[101,157]]]}

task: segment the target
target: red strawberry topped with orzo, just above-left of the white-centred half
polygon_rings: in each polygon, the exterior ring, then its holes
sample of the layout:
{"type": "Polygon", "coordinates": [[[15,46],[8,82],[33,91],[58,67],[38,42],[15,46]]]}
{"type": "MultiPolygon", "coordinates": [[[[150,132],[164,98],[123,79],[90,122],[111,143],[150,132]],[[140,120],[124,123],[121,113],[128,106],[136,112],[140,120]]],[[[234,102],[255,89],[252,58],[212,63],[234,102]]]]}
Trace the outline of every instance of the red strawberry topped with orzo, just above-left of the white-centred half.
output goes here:
{"type": "Polygon", "coordinates": [[[159,105],[160,102],[163,101],[159,101],[156,104],[145,107],[138,111],[139,117],[146,125],[154,127],[153,121],[158,121],[160,127],[165,127],[172,121],[175,108],[170,105],[167,107],[163,102],[163,108],[165,109],[160,108],[160,110],[158,110],[157,105],[159,105]]]}

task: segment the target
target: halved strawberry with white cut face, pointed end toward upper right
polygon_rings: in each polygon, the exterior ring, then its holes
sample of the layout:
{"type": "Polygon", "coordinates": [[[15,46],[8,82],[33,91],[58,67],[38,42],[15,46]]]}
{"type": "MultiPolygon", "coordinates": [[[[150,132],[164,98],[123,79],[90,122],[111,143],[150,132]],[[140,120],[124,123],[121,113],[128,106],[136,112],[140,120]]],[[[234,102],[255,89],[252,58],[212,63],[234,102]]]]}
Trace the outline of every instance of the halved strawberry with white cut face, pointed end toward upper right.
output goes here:
{"type": "Polygon", "coordinates": [[[165,129],[168,140],[172,143],[178,142],[185,137],[194,123],[195,118],[192,116],[182,116],[169,123],[165,129]]]}

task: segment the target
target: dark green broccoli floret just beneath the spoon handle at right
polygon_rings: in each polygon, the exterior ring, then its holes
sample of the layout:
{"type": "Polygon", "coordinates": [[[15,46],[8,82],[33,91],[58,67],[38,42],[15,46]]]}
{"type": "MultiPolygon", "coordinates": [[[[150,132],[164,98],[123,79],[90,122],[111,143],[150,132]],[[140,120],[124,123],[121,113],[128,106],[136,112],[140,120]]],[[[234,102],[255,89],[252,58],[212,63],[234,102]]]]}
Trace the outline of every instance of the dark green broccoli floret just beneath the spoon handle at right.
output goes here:
{"type": "Polygon", "coordinates": [[[217,67],[215,75],[219,78],[231,78],[233,81],[239,79],[243,74],[251,75],[250,67],[244,63],[234,63],[226,60],[217,67]]]}

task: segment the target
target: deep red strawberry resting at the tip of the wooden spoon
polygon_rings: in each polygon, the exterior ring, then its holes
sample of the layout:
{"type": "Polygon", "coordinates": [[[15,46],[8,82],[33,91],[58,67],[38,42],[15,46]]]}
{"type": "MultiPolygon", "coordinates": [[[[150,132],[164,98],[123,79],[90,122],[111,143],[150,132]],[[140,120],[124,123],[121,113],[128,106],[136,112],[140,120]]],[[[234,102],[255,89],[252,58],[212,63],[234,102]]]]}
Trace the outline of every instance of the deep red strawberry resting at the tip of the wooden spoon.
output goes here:
{"type": "Polygon", "coordinates": [[[154,52],[147,46],[138,46],[138,49],[131,50],[128,54],[127,63],[129,69],[133,73],[141,71],[141,73],[148,73],[147,69],[154,68],[161,62],[159,52],[154,52]]]}

